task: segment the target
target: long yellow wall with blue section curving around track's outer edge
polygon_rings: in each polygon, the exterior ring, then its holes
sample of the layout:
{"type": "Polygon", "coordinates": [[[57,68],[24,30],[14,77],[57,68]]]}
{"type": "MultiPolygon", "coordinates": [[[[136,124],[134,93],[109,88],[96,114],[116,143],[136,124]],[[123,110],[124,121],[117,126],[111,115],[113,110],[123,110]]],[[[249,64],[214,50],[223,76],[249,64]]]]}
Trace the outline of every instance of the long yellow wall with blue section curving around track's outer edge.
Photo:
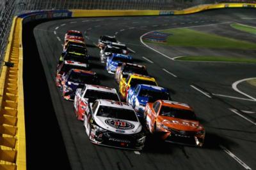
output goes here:
{"type": "Polygon", "coordinates": [[[0,169],[26,169],[26,134],[23,95],[22,24],[33,20],[72,17],[118,17],[144,15],[183,15],[218,8],[255,8],[256,4],[222,3],[205,4],[180,11],[159,10],[54,10],[35,11],[13,18],[9,43],[4,61],[13,67],[3,66],[0,77],[0,169]]]}

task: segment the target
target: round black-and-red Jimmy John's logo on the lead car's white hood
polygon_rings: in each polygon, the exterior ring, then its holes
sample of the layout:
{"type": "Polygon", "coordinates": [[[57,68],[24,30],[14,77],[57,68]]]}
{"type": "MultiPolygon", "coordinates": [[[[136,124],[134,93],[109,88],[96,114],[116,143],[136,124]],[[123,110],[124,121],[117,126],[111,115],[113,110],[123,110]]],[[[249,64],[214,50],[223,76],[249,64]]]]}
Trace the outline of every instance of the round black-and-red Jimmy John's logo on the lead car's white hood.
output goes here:
{"type": "Polygon", "coordinates": [[[126,122],[124,120],[107,119],[105,120],[105,123],[111,127],[121,130],[129,130],[134,128],[133,124],[126,122]]]}

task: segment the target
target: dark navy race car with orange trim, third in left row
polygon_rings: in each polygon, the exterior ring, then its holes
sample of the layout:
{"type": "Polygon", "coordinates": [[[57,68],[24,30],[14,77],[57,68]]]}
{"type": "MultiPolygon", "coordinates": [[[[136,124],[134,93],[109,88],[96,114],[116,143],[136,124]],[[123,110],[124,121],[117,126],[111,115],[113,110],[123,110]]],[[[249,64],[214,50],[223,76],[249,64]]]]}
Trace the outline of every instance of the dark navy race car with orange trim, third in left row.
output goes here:
{"type": "Polygon", "coordinates": [[[61,92],[64,99],[74,100],[76,89],[84,84],[99,85],[99,79],[93,71],[84,71],[81,69],[70,69],[67,74],[61,78],[61,92]]]}

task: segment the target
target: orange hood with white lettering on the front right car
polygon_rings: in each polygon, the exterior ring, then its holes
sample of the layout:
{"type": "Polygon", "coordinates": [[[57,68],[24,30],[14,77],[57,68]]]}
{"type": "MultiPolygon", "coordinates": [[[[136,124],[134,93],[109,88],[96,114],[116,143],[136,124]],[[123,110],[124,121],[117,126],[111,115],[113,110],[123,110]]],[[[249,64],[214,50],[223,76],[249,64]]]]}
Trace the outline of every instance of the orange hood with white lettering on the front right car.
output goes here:
{"type": "Polygon", "coordinates": [[[159,122],[170,129],[177,129],[181,131],[198,131],[200,130],[200,124],[198,121],[185,120],[172,117],[158,117],[159,122]]]}

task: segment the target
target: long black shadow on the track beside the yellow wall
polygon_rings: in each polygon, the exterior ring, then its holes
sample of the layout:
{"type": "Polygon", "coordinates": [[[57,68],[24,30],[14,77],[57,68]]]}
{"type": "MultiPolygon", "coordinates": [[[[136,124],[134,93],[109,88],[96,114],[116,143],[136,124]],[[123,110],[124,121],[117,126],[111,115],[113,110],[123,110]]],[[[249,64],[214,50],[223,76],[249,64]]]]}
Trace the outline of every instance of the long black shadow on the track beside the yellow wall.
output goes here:
{"type": "Polygon", "coordinates": [[[33,36],[33,28],[42,22],[25,24],[22,32],[26,165],[28,170],[71,169],[33,36]]]}

